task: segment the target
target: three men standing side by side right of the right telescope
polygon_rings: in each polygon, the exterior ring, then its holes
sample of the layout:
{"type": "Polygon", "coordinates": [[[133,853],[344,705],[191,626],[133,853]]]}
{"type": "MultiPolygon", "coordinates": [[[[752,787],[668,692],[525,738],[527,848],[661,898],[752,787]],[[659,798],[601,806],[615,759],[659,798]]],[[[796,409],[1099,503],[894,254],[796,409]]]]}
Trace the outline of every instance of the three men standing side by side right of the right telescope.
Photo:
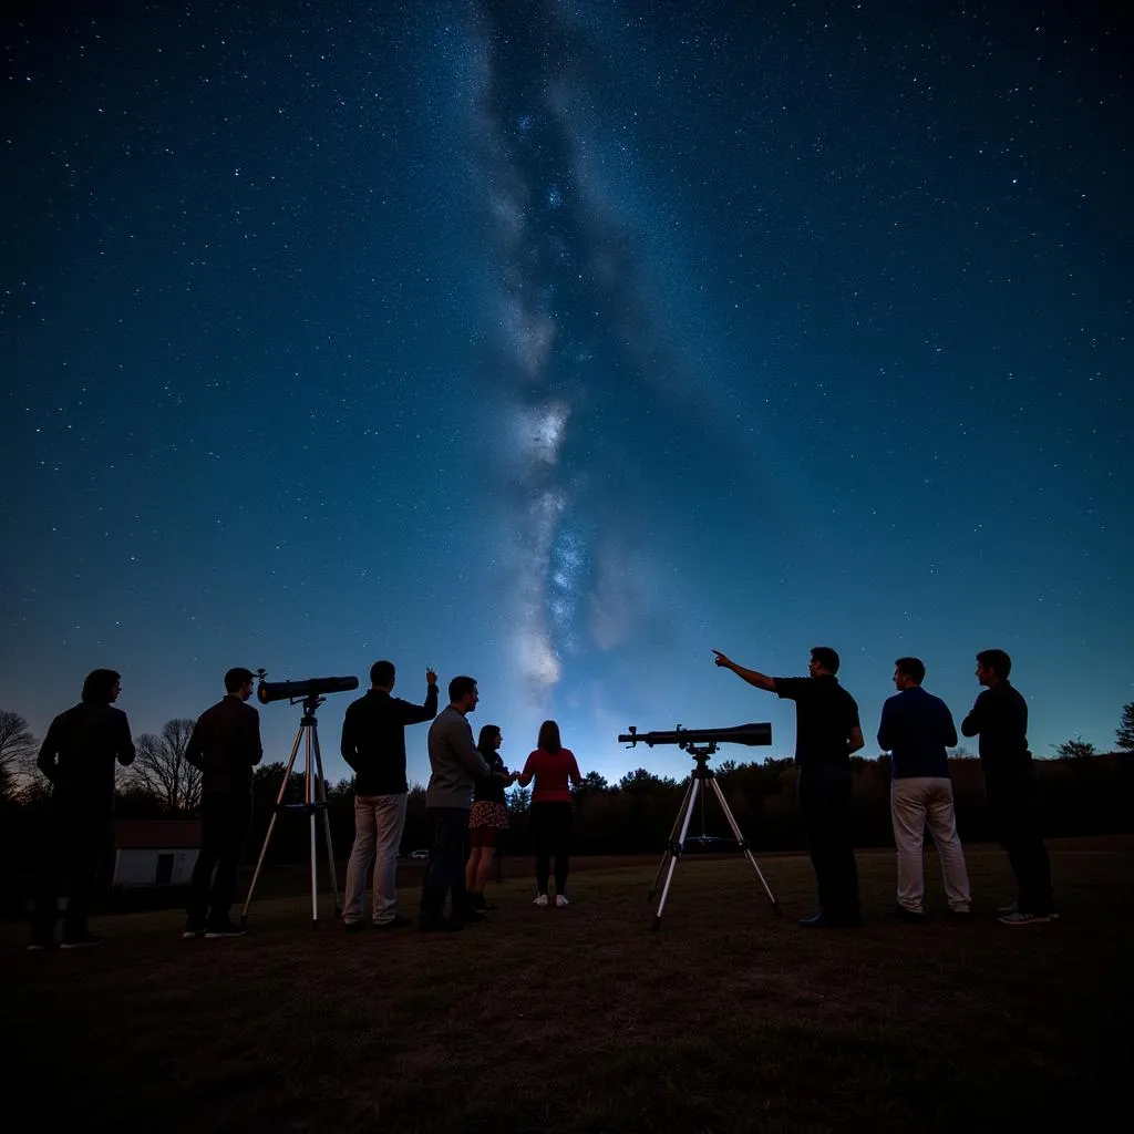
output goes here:
{"type": "MultiPolygon", "coordinates": [[[[850,755],[865,742],[858,705],[836,677],[838,653],[830,646],[815,646],[807,677],[769,677],[738,666],[719,650],[713,653],[718,666],[750,685],[795,702],[799,811],[819,890],[819,911],[799,924],[812,929],[860,925],[850,755]]],[[[984,688],[960,731],[980,737],[989,811],[1016,877],[1017,896],[999,908],[999,920],[1006,925],[1034,925],[1058,915],[1027,747],[1027,702],[1012,685],[1010,672],[1012,658],[1004,650],[976,654],[976,679],[984,688]]],[[[878,743],[890,754],[890,815],[898,860],[894,916],[915,923],[925,921],[922,846],[926,826],[941,861],[950,915],[970,916],[971,902],[946,751],[957,743],[957,730],[948,705],[922,688],[924,679],[921,659],[898,658],[894,666],[898,692],[882,705],[878,728],[878,743]]]]}

